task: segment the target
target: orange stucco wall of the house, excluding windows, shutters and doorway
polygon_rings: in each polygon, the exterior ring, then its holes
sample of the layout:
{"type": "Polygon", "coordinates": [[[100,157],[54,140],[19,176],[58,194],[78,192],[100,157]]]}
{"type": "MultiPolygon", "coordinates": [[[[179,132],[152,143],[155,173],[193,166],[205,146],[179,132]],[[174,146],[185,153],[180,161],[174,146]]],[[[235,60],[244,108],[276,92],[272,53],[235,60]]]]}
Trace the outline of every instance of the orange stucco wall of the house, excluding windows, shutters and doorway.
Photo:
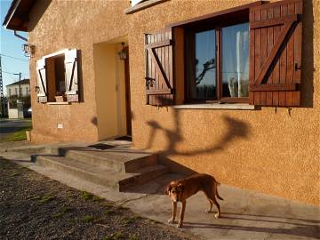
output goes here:
{"type": "MultiPolygon", "coordinates": [[[[81,51],[82,101],[38,103],[31,91],[32,140],[101,140],[95,44],[125,36],[130,48],[132,140],[160,154],[175,171],[214,175],[223,184],[320,205],[320,2],[304,1],[301,108],[177,109],[146,105],[144,33],[252,0],[171,0],[124,14],[129,1],[37,1],[30,12],[29,44],[36,60],[61,49],[81,51]],[[57,128],[63,124],[63,128],[57,128]]],[[[103,94],[102,94],[103,96],[103,94]]],[[[108,101],[105,102],[108,108],[108,101]]],[[[102,110],[103,111],[103,110],[102,110]]],[[[101,120],[103,121],[103,120],[101,120]]],[[[106,125],[105,127],[108,127],[106,125]]]]}

